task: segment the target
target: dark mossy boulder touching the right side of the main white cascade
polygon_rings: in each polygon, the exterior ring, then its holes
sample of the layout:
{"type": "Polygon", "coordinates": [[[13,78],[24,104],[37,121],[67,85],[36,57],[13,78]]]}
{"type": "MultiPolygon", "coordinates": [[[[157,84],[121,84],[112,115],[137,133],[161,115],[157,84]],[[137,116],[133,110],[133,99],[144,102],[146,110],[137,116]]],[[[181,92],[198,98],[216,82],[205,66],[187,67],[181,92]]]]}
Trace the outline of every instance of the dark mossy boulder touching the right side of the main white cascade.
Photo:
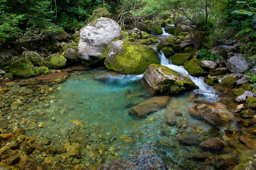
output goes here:
{"type": "Polygon", "coordinates": [[[204,70],[200,65],[199,61],[195,58],[191,59],[184,65],[184,69],[189,72],[191,76],[205,76],[208,74],[206,70],[204,70]]]}

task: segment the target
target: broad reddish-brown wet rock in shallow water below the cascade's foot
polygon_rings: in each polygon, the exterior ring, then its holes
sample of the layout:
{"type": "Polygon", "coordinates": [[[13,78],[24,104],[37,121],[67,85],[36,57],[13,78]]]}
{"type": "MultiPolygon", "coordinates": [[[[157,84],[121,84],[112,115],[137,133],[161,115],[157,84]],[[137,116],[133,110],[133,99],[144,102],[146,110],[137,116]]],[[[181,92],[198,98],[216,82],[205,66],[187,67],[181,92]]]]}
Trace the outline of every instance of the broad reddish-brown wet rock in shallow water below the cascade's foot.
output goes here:
{"type": "Polygon", "coordinates": [[[233,113],[227,109],[226,105],[221,103],[196,105],[189,108],[189,113],[195,118],[205,120],[210,124],[218,126],[225,125],[234,117],[233,113]]]}

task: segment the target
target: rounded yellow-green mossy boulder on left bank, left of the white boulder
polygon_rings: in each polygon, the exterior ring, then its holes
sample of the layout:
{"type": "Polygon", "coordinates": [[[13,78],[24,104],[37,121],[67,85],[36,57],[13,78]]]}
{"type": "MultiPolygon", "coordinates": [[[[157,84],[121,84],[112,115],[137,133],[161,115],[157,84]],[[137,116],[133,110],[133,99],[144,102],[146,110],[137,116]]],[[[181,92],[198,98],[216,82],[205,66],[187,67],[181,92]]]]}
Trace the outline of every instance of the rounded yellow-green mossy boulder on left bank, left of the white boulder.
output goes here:
{"type": "Polygon", "coordinates": [[[66,65],[67,59],[63,55],[53,54],[45,58],[42,65],[48,68],[58,69],[63,68],[66,65]]]}

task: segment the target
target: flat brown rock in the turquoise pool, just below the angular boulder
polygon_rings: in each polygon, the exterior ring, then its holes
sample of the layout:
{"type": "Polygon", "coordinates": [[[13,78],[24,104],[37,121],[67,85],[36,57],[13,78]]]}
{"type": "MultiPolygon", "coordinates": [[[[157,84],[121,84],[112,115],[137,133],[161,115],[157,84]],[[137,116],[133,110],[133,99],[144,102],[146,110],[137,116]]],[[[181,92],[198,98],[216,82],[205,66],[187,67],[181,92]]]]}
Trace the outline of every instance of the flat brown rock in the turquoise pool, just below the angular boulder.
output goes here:
{"type": "Polygon", "coordinates": [[[137,116],[145,116],[149,113],[162,109],[165,105],[167,105],[169,99],[169,96],[150,98],[139,105],[132,107],[131,113],[137,116]]]}

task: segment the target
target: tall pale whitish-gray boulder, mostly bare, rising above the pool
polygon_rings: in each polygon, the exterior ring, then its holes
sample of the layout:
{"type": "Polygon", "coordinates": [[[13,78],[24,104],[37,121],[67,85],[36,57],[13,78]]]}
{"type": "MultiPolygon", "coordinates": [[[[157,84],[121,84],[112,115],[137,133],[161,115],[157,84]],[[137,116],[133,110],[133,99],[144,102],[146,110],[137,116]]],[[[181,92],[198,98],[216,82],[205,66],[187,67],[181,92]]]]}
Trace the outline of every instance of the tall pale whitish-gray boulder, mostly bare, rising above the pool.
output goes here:
{"type": "Polygon", "coordinates": [[[117,22],[100,17],[80,30],[79,57],[89,63],[98,64],[106,58],[108,44],[113,39],[122,37],[121,28],[117,22]]]}

